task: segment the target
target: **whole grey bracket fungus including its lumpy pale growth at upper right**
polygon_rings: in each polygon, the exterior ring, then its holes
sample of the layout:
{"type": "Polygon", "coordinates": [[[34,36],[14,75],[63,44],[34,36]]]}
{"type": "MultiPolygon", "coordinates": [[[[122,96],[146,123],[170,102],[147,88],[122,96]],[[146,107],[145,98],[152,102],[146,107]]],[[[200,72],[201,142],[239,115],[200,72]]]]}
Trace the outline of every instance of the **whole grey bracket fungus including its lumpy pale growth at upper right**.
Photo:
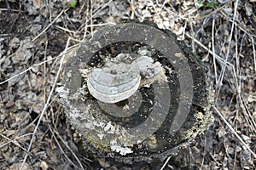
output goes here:
{"type": "Polygon", "coordinates": [[[128,99],[140,87],[141,78],[151,78],[160,73],[148,56],[119,54],[102,68],[93,68],[87,79],[90,94],[105,103],[128,99]],[[126,60],[131,60],[127,62],[126,60]]]}

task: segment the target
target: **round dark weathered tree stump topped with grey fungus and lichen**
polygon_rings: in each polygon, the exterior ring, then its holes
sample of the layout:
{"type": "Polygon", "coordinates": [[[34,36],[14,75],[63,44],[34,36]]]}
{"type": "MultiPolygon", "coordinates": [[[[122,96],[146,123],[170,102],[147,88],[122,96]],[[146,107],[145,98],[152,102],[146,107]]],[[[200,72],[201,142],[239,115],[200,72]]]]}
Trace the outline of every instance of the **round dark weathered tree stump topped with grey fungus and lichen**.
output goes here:
{"type": "Polygon", "coordinates": [[[118,161],[163,160],[213,121],[207,67],[151,23],[97,31],[67,62],[62,84],[69,122],[118,161]]]}

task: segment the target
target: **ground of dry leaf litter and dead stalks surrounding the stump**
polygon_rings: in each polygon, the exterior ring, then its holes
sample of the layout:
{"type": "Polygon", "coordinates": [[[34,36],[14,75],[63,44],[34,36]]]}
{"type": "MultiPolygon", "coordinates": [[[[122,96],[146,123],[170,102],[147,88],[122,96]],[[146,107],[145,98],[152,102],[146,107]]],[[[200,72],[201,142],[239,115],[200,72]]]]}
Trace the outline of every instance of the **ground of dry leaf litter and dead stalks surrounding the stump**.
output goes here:
{"type": "Polygon", "coordinates": [[[0,0],[0,169],[255,169],[256,2],[0,0]],[[55,88],[61,59],[102,26],[149,20],[209,66],[214,123],[166,161],[81,151],[55,88]]]}

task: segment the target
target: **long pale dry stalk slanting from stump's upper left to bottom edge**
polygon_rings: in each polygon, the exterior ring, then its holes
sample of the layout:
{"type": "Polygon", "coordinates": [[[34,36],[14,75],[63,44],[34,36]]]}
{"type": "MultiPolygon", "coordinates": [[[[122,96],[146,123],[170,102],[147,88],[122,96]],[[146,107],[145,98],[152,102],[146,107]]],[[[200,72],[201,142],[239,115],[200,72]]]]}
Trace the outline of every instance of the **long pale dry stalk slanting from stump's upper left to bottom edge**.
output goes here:
{"type": "MultiPolygon", "coordinates": [[[[48,99],[47,99],[47,101],[46,101],[46,104],[44,105],[44,109],[43,109],[43,111],[41,112],[41,115],[40,115],[40,117],[39,117],[39,119],[38,119],[37,126],[35,127],[35,129],[34,129],[34,131],[33,131],[32,139],[31,139],[31,142],[30,142],[30,144],[29,144],[29,146],[28,146],[27,152],[29,152],[29,151],[31,150],[32,143],[33,143],[33,139],[35,138],[36,133],[37,133],[37,131],[38,131],[38,126],[39,126],[39,124],[40,124],[40,122],[41,122],[41,120],[42,120],[42,118],[43,118],[43,116],[44,116],[44,112],[46,111],[46,109],[47,109],[47,107],[48,107],[48,105],[49,105],[49,100],[51,99],[51,96],[52,96],[52,94],[54,93],[55,85],[56,85],[56,83],[57,83],[57,81],[58,81],[59,75],[61,74],[61,68],[62,68],[62,64],[63,64],[64,59],[65,59],[65,56],[66,56],[66,52],[67,52],[67,47],[68,47],[68,45],[69,45],[69,41],[70,41],[70,38],[68,37],[68,39],[67,39],[67,44],[66,44],[66,48],[64,49],[64,52],[65,52],[65,53],[64,53],[64,55],[62,55],[62,57],[61,57],[61,64],[60,64],[59,70],[58,70],[58,72],[57,72],[57,74],[56,74],[55,82],[54,82],[54,84],[53,84],[53,86],[52,86],[52,88],[51,88],[51,90],[50,90],[49,97],[48,97],[48,99]]],[[[24,167],[24,164],[25,164],[25,162],[26,162],[27,156],[28,156],[28,154],[26,153],[26,156],[25,156],[25,158],[24,158],[24,160],[23,160],[23,162],[22,162],[21,168],[20,168],[21,170],[22,170],[22,168],[24,167]]]]}

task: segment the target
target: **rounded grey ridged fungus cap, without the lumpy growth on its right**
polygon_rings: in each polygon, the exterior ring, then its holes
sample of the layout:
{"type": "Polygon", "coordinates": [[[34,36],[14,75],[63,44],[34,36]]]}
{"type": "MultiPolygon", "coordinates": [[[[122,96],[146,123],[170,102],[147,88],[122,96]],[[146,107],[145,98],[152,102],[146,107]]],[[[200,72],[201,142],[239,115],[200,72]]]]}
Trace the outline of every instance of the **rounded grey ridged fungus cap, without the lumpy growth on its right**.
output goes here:
{"type": "Polygon", "coordinates": [[[108,63],[93,69],[87,79],[90,94],[105,103],[127,99],[139,88],[141,75],[136,65],[108,63]]]}

